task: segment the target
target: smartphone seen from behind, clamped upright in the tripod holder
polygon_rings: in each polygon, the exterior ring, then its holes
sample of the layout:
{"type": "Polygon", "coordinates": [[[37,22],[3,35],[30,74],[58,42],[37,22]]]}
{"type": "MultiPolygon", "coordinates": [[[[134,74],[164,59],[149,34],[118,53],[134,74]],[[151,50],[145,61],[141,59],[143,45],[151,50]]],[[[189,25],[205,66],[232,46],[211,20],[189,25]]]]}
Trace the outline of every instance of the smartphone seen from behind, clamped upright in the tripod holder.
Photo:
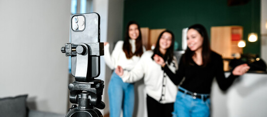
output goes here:
{"type": "MultiPolygon", "coordinates": [[[[97,13],[75,14],[71,16],[71,43],[98,43],[100,42],[100,16],[97,13]]],[[[71,73],[76,77],[76,56],[71,57],[71,73]]],[[[100,57],[88,59],[88,78],[100,75],[100,57]]]]}

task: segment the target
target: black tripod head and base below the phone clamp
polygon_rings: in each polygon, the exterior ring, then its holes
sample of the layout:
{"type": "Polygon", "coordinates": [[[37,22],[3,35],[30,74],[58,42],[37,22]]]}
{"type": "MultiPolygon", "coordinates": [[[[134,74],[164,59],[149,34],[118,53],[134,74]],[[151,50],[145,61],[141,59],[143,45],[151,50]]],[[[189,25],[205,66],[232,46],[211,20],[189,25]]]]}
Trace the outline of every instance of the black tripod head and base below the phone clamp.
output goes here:
{"type": "Polygon", "coordinates": [[[70,101],[78,103],[78,107],[73,105],[66,117],[103,117],[100,111],[96,109],[105,108],[104,102],[101,101],[103,83],[104,81],[100,79],[94,79],[88,83],[76,81],[70,83],[70,101]]]}

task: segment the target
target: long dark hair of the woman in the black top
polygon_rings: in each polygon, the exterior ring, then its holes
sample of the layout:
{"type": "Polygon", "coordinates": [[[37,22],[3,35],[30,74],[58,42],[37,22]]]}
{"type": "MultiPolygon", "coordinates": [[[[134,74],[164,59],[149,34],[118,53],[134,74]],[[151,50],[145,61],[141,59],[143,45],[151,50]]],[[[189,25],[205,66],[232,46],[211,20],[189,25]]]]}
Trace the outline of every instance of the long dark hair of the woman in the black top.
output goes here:
{"type": "MultiPolygon", "coordinates": [[[[203,44],[202,44],[202,66],[206,66],[210,62],[210,41],[209,36],[207,33],[206,28],[201,24],[194,24],[191,25],[188,30],[195,29],[202,37],[203,37],[203,44]]],[[[183,61],[187,64],[193,64],[191,59],[194,56],[195,52],[191,51],[189,47],[187,47],[186,52],[184,54],[183,61]]]]}

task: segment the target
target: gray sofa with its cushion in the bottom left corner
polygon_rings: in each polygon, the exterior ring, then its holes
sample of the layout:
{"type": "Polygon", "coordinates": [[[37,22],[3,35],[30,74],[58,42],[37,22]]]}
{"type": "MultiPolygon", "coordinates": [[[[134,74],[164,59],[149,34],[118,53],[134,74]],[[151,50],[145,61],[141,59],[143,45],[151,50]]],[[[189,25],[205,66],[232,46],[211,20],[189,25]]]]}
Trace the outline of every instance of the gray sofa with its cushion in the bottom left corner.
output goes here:
{"type": "Polygon", "coordinates": [[[29,109],[26,104],[27,96],[0,98],[0,117],[65,117],[63,114],[29,109]]]}

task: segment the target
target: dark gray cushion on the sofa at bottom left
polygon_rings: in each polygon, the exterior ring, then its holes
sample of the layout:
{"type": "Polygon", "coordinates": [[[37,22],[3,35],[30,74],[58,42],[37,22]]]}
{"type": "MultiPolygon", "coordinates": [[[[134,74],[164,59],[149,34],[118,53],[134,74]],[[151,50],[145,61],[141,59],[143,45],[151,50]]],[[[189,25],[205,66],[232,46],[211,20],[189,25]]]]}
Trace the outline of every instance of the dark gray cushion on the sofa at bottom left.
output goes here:
{"type": "Polygon", "coordinates": [[[27,96],[0,98],[0,117],[26,117],[27,96]]]}

